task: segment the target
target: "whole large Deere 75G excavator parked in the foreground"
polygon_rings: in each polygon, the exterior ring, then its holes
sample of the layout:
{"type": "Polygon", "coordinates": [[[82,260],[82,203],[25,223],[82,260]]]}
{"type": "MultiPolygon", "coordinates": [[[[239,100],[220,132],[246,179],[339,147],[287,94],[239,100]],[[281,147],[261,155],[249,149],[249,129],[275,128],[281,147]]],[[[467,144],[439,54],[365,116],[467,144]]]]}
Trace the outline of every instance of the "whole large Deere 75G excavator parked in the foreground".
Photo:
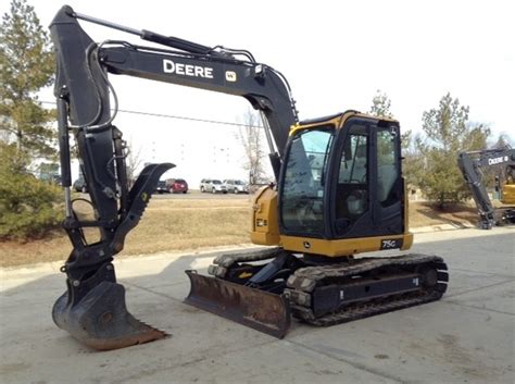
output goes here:
{"type": "Polygon", "coordinates": [[[211,276],[186,271],[191,281],[186,302],[282,337],[291,315],[330,325],[441,298],[448,273],[440,257],[354,258],[405,250],[413,243],[397,121],[347,111],[300,122],[286,78],[244,50],[137,30],[66,5],[50,30],[58,62],[63,226],[73,245],[62,268],[67,289],[52,310],[59,327],[97,349],[165,336],[127,311],[113,257],[138,224],[160,176],[174,165],[150,164],[128,187],[126,147],[113,125],[117,100],[108,74],[242,96],[262,114],[276,183],[254,197],[251,239],[267,247],[218,257],[209,269],[211,276]],[[78,20],[160,47],[95,44],[78,20]],[[71,134],[95,220],[83,220],[74,210],[71,134]],[[87,227],[99,231],[98,241],[86,241],[87,227]]]}

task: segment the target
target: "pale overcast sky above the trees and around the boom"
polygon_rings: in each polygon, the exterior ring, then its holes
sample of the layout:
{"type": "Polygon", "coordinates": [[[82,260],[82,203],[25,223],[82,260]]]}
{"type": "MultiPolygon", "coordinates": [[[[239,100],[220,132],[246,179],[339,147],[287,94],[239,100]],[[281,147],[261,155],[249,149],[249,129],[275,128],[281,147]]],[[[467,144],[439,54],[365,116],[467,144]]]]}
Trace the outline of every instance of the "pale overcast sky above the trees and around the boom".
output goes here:
{"type": "MultiPolygon", "coordinates": [[[[0,12],[9,10],[0,0],[0,12]]],[[[377,89],[403,129],[448,91],[473,122],[515,137],[515,22],[511,1],[73,1],[75,11],[206,46],[250,50],[289,80],[301,119],[367,111],[377,89]]],[[[63,1],[33,0],[48,26],[63,1]]],[[[81,23],[93,40],[136,36],[81,23]]],[[[125,110],[206,120],[241,120],[244,99],[112,76],[125,110]]],[[[41,99],[51,100],[51,92],[41,99]]],[[[116,125],[146,160],[172,161],[181,174],[240,172],[237,128],[121,113],[116,125]]]]}

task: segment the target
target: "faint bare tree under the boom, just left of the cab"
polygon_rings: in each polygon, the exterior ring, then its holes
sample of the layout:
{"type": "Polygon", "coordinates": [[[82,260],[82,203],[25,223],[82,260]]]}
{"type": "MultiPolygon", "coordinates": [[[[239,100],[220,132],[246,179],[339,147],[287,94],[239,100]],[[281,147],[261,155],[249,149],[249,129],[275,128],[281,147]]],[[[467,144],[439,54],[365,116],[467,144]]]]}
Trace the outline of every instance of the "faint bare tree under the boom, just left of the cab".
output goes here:
{"type": "Polygon", "coordinates": [[[266,181],[266,173],[264,171],[264,140],[263,127],[259,114],[248,109],[242,114],[243,126],[238,129],[237,138],[243,146],[247,161],[243,163],[243,169],[249,172],[249,183],[259,184],[266,181]]]}

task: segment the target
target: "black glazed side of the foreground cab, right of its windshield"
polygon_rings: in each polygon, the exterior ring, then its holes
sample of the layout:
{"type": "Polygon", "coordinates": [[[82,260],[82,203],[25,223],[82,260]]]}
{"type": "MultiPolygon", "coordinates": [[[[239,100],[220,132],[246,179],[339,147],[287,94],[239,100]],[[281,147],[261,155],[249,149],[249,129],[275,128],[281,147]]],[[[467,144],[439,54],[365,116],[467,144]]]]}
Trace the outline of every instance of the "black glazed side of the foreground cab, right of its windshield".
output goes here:
{"type": "Polygon", "coordinates": [[[351,117],[339,131],[330,173],[331,238],[403,233],[399,126],[351,117]]]}

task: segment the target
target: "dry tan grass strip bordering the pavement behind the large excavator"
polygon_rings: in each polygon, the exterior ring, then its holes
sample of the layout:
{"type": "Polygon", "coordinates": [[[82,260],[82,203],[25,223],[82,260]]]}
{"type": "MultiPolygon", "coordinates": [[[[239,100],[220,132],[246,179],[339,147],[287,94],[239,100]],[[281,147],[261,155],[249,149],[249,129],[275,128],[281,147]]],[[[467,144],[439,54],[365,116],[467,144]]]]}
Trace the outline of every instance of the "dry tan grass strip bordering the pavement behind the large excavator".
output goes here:
{"type": "MultiPolygon", "coordinates": [[[[121,256],[159,251],[194,251],[248,244],[251,199],[152,199],[139,225],[129,233],[121,256]]],[[[472,206],[438,212],[424,202],[410,203],[411,227],[476,222],[472,206]]],[[[88,234],[91,241],[95,236],[88,234]]],[[[65,260],[72,249],[64,232],[45,240],[0,243],[0,267],[65,260]]]]}

